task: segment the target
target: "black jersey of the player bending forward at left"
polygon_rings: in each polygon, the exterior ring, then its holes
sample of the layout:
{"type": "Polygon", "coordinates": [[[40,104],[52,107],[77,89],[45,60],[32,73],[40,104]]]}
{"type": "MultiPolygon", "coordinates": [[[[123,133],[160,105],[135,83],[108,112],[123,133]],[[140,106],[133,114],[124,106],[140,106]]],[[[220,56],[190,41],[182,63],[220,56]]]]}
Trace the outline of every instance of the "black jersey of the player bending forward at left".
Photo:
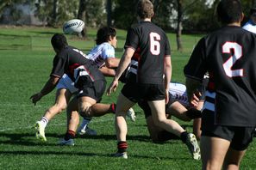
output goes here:
{"type": "Polygon", "coordinates": [[[85,70],[89,73],[93,80],[104,80],[104,76],[97,65],[85,54],[72,46],[66,46],[53,58],[53,70],[51,76],[61,77],[65,73],[74,81],[74,69],[84,65],[85,70]]]}

